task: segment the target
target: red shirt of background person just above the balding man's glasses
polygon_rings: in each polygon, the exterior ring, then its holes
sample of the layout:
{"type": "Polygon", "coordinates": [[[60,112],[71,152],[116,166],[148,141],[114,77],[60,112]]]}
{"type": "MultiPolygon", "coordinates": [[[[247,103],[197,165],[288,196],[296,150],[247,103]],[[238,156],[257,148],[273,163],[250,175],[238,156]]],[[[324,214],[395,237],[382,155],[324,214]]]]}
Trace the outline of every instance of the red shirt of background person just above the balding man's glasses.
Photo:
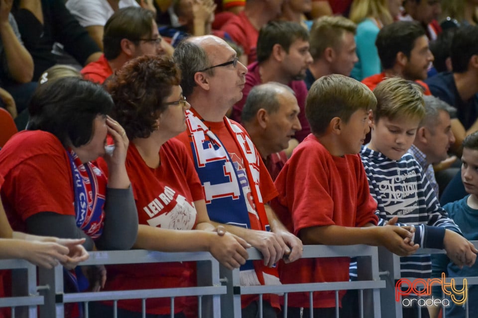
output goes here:
{"type": "Polygon", "coordinates": [[[248,64],[257,60],[256,47],[259,30],[250,23],[244,11],[230,18],[222,26],[221,31],[228,33],[244,49],[248,64]]]}

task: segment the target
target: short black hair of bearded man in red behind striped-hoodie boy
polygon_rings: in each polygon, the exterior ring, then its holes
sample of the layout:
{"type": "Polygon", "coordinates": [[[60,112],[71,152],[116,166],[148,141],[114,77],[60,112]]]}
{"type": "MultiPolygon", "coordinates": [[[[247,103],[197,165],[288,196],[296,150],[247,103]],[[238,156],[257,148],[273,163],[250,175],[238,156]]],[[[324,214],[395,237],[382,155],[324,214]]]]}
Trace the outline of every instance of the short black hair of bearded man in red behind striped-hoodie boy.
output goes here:
{"type": "Polygon", "coordinates": [[[415,40],[423,35],[425,30],[417,21],[397,21],[385,25],[375,40],[382,68],[391,69],[395,65],[398,52],[410,58],[415,40]]]}

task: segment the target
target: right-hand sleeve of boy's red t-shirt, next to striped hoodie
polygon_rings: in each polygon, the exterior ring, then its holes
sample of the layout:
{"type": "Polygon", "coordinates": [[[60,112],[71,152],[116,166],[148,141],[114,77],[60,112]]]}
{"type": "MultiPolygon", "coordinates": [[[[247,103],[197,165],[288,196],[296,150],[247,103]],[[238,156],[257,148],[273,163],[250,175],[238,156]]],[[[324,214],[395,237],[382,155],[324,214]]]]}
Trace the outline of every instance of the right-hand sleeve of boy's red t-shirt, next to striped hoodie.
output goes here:
{"type": "Polygon", "coordinates": [[[370,195],[367,175],[365,173],[365,169],[363,168],[362,160],[360,159],[359,155],[357,155],[357,157],[359,159],[359,163],[355,167],[355,171],[357,171],[358,184],[356,226],[363,227],[367,223],[377,225],[378,217],[375,215],[375,211],[377,210],[377,202],[370,195]]]}

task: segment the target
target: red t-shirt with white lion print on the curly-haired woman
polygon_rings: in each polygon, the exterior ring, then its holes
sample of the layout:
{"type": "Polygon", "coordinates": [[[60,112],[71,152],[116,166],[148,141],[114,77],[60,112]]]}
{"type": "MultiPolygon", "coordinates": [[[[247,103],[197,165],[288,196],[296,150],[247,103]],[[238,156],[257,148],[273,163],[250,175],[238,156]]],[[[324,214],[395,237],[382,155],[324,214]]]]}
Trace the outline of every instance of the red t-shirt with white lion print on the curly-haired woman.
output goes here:
{"type": "MultiPolygon", "coordinates": [[[[174,230],[196,227],[194,201],[204,199],[203,189],[186,147],[170,139],[159,151],[161,163],[150,168],[130,143],[126,170],[134,194],[139,224],[174,230]]],[[[155,289],[195,286],[194,266],[190,263],[153,263],[108,266],[107,290],[155,289]]],[[[186,299],[174,299],[175,313],[182,312],[186,299]]],[[[112,303],[109,303],[112,305],[112,303]]],[[[124,300],[118,307],[141,312],[140,300],[124,300]]],[[[148,299],[146,313],[167,315],[170,299],[148,299]]]]}

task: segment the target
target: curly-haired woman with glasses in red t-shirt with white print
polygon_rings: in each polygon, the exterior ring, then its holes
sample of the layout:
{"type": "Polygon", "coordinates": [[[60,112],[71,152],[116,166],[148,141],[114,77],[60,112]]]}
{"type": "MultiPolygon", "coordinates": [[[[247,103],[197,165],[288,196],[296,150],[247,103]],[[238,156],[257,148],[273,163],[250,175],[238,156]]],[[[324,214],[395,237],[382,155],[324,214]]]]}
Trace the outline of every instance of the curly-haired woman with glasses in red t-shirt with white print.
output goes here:
{"type": "MultiPolygon", "coordinates": [[[[238,268],[248,257],[249,244],[209,223],[193,162],[185,146],[173,138],[186,129],[185,110],[190,107],[180,81],[171,58],[146,55],[126,63],[107,83],[115,102],[112,116],[131,140],[126,170],[140,224],[134,247],[209,251],[225,266],[238,268]]],[[[195,284],[195,275],[191,264],[179,262],[111,266],[105,290],[187,287],[195,284]]],[[[184,317],[193,302],[176,297],[175,317],[184,317]]],[[[113,313],[111,303],[92,303],[90,308],[91,317],[113,313]]],[[[170,317],[170,300],[148,299],[146,314],[170,317]]],[[[118,317],[142,317],[141,302],[119,301],[118,317]]]]}

